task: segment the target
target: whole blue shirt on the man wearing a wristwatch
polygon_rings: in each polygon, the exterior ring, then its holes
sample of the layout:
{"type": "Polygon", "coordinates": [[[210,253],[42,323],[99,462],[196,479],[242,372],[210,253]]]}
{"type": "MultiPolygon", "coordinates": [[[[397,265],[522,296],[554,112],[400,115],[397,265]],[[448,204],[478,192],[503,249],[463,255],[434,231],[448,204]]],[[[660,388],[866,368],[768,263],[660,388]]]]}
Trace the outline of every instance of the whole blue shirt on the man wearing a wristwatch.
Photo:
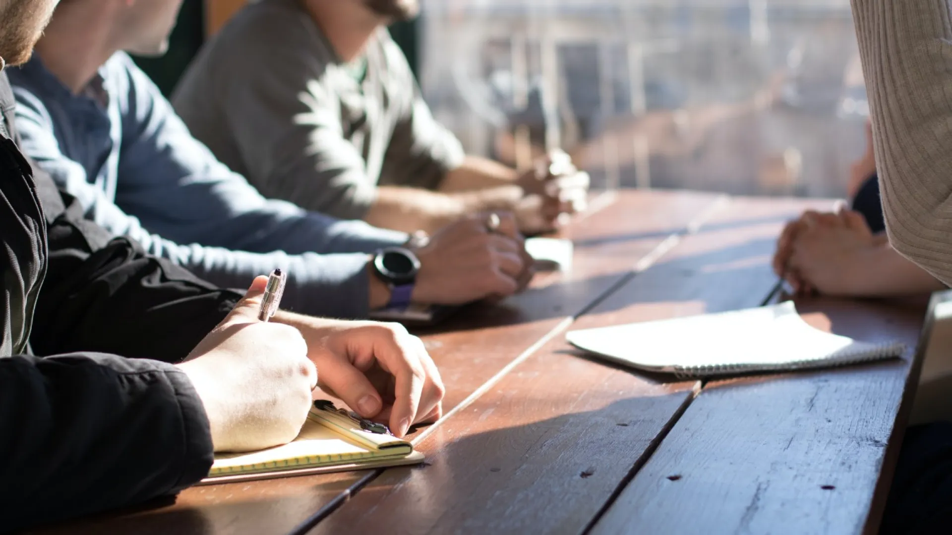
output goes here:
{"type": "Polygon", "coordinates": [[[125,53],[80,94],[36,55],[9,75],[24,151],[87,216],[212,283],[247,287],[254,275],[283,268],[285,307],[361,317],[367,253],[407,240],[265,199],[188,133],[125,53]]]}

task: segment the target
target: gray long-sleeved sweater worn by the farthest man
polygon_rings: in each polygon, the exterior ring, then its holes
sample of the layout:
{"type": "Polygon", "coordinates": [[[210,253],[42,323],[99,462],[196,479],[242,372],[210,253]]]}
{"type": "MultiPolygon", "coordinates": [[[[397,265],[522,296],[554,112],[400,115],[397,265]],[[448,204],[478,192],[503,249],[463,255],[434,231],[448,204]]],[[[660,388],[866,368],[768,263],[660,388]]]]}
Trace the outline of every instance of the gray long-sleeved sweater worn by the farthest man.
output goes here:
{"type": "Polygon", "coordinates": [[[262,193],[343,219],[367,216],[377,175],[382,185],[432,189],[463,163],[386,30],[367,46],[360,91],[338,61],[296,3],[258,4],[208,44],[172,102],[262,193]]]}

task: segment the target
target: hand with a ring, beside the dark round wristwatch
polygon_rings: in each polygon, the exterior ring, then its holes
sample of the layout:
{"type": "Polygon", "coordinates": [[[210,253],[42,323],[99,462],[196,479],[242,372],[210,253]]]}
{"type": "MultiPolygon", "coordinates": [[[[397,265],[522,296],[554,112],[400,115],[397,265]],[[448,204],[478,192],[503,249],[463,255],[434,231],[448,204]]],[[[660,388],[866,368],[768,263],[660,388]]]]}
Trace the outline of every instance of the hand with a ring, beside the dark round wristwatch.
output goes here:
{"type": "Polygon", "coordinates": [[[532,261],[511,214],[476,214],[441,229],[414,250],[420,271],[415,303],[463,305],[520,291],[532,277],[532,261]],[[491,222],[496,228],[490,228],[491,222]]]}

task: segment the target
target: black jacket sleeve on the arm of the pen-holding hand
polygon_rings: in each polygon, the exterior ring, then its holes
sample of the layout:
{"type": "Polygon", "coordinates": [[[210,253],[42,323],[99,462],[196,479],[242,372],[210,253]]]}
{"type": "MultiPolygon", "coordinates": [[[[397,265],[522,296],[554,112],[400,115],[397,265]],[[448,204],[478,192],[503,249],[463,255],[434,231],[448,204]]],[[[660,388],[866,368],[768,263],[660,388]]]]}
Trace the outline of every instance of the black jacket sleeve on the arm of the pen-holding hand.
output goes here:
{"type": "Polygon", "coordinates": [[[0,358],[0,531],[173,494],[208,474],[208,419],[165,363],[0,358]]]}

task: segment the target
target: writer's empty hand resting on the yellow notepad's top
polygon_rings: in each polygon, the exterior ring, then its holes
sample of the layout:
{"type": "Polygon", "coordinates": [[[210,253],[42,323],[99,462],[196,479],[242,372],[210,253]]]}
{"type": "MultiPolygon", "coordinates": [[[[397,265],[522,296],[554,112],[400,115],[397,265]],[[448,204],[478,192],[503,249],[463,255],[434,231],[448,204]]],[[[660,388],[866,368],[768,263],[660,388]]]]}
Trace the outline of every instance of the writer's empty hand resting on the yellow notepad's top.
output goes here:
{"type": "MultiPolygon", "coordinates": [[[[399,324],[324,320],[290,322],[307,340],[320,386],[397,436],[443,416],[446,392],[423,342],[399,324]]],[[[279,321],[284,321],[279,320],[279,321]]]]}

